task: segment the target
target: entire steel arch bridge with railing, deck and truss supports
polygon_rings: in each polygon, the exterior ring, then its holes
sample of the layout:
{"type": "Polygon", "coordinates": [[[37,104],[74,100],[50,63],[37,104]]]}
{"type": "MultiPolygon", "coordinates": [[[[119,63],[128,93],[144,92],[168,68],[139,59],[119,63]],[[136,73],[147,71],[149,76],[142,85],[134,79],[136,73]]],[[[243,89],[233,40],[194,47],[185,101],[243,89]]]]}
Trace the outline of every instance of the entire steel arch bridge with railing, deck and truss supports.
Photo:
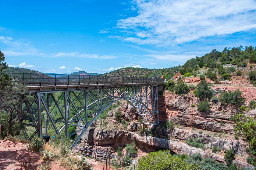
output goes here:
{"type": "Polygon", "coordinates": [[[162,85],[162,78],[7,74],[27,85],[29,97],[23,96],[22,102],[30,122],[21,125],[28,139],[36,134],[42,137],[52,129],[55,135],[65,133],[66,137],[80,133],[73,144],[76,145],[96,118],[120,100],[129,102],[144,124],[159,124],[158,85],[162,85]],[[34,133],[27,133],[28,126],[34,128],[34,133]],[[70,126],[75,126],[76,132],[69,133],[70,126]]]}

